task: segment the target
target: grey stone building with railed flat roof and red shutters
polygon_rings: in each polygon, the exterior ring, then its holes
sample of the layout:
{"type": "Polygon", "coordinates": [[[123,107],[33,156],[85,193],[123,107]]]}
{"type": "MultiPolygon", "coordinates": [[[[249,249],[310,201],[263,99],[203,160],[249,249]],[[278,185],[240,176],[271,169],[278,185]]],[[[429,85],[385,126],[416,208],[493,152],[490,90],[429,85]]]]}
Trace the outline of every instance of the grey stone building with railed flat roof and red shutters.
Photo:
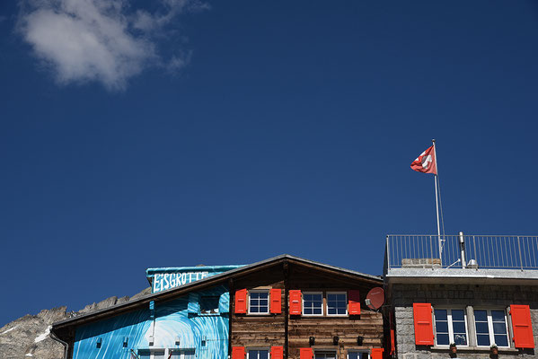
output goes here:
{"type": "Polygon", "coordinates": [[[538,357],[537,269],[536,237],[387,236],[391,354],[538,357]]]}

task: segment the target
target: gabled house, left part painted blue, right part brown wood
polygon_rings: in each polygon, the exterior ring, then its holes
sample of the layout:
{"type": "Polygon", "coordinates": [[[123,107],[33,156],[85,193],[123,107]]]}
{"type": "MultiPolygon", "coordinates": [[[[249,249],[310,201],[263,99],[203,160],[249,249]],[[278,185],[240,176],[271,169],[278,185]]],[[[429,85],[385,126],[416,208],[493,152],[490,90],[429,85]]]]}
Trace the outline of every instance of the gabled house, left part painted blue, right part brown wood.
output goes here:
{"type": "Polygon", "coordinates": [[[381,359],[384,317],[364,304],[378,286],[281,255],[54,323],[51,337],[66,359],[381,359]]]}

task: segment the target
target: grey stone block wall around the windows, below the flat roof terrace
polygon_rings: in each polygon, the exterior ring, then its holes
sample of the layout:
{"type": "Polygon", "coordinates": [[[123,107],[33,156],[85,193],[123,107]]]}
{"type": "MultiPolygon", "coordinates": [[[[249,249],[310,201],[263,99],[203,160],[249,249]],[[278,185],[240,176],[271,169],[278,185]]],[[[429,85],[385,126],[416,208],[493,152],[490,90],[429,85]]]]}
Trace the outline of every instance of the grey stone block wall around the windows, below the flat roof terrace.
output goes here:
{"type": "MultiPolygon", "coordinates": [[[[538,286],[530,285],[392,285],[391,302],[394,308],[396,350],[400,359],[448,358],[448,349],[415,346],[413,302],[430,302],[434,308],[495,307],[510,304],[528,304],[533,320],[534,344],[538,344],[538,286]]],[[[468,315],[469,317],[469,315],[468,315]]],[[[508,318],[509,321],[509,318],[508,318]]],[[[510,324],[508,324],[511,327],[510,324]]],[[[468,318],[468,341],[474,328],[468,318]]],[[[511,330],[511,328],[510,328],[511,330]]],[[[511,336],[510,336],[511,338],[511,336]]],[[[513,346],[513,343],[512,343],[513,346]]],[[[538,347],[519,351],[515,348],[499,350],[500,358],[538,358],[538,347]],[[518,356],[519,355],[519,356],[518,356]]],[[[488,349],[458,347],[459,358],[489,358],[488,349]]]]}

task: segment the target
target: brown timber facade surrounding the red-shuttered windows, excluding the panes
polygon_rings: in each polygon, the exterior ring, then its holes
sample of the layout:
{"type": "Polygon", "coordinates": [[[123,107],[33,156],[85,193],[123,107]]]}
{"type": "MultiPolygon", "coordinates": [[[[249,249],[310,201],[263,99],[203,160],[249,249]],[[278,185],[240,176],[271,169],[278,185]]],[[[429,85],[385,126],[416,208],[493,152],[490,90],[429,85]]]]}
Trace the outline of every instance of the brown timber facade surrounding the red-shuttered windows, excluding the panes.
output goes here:
{"type": "MultiPolygon", "coordinates": [[[[295,260],[281,260],[272,267],[235,277],[229,284],[230,355],[233,359],[256,359],[248,356],[249,348],[272,352],[275,347],[281,347],[283,358],[288,359],[311,359],[316,352],[322,351],[334,353],[338,359],[348,359],[348,351],[370,353],[373,348],[383,348],[383,315],[364,305],[366,293],[382,285],[381,278],[344,273],[328,266],[295,260]],[[249,293],[247,302],[250,293],[280,289],[280,313],[237,312],[234,296],[245,289],[249,293]],[[290,312],[290,291],[292,295],[322,293],[322,315],[290,312]],[[350,291],[361,295],[360,314],[329,315],[327,294],[346,293],[348,300],[350,291]]],[[[380,354],[378,350],[377,356],[380,354]]],[[[271,359],[275,359],[274,355],[271,359]]]]}

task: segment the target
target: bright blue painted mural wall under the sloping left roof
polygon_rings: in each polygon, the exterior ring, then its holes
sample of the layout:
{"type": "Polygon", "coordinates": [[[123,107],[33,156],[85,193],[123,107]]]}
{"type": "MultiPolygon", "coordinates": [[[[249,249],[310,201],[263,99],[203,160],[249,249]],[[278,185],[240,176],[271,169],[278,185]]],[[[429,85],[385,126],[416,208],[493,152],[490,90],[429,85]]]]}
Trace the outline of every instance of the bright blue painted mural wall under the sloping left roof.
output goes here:
{"type": "Polygon", "coordinates": [[[222,285],[76,328],[73,359],[222,359],[229,293],[222,285]]]}

